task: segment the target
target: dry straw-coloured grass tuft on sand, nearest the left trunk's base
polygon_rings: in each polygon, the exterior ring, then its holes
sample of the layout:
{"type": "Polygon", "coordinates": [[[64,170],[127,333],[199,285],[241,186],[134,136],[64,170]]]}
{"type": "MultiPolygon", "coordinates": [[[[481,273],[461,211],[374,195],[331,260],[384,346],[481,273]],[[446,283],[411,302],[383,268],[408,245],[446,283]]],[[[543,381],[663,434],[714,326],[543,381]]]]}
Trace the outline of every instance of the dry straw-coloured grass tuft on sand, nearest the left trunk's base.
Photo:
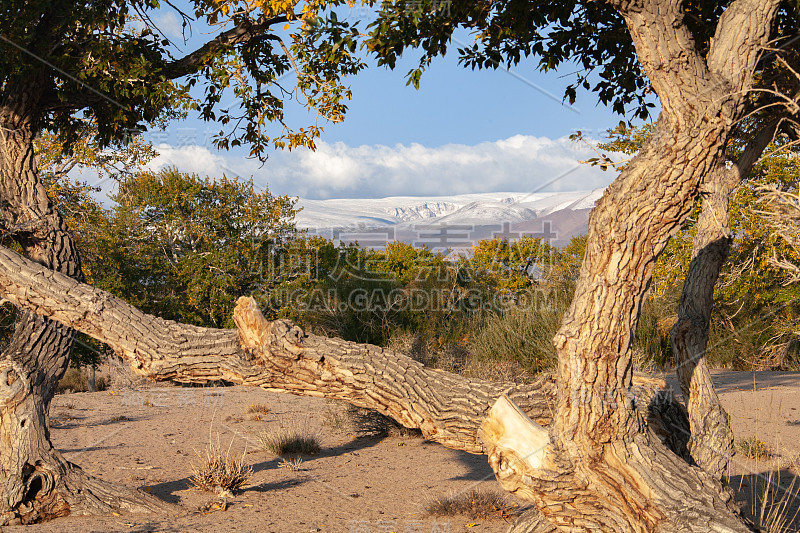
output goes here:
{"type": "Polygon", "coordinates": [[[240,490],[250,481],[253,476],[253,469],[244,464],[244,456],[231,456],[231,444],[225,453],[219,444],[219,434],[217,443],[209,442],[205,454],[195,451],[197,463],[192,462],[192,484],[200,490],[215,492],[220,496],[233,497],[236,491],[240,490]]]}

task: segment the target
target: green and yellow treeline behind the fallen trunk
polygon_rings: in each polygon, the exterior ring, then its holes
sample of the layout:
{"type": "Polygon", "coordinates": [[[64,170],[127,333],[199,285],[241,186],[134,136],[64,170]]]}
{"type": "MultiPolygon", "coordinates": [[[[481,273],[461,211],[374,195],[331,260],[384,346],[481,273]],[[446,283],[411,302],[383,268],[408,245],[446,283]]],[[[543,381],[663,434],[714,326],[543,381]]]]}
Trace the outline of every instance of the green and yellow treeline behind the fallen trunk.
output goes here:
{"type": "MultiPolygon", "coordinates": [[[[401,242],[334,245],[295,228],[295,200],[252,181],[166,169],[119,180],[105,208],[85,184],[49,181],[82,252],[90,284],[166,319],[233,327],[240,296],[268,318],[403,351],[426,364],[525,379],[556,361],[552,338],[581,268],[586,238],[557,249],[538,238],[481,241],[468,257],[401,242]]],[[[739,195],[751,194],[743,188],[739,195]]],[[[785,255],[756,202],[735,205],[731,261],[717,289],[708,356],[730,368],[797,369],[800,291],[770,266],[785,255]]],[[[671,364],[669,332],[691,256],[691,221],[659,258],[643,304],[635,362],[671,364]]],[[[5,331],[13,309],[3,308],[5,331]]],[[[103,347],[81,336],[75,364],[103,347]]]]}

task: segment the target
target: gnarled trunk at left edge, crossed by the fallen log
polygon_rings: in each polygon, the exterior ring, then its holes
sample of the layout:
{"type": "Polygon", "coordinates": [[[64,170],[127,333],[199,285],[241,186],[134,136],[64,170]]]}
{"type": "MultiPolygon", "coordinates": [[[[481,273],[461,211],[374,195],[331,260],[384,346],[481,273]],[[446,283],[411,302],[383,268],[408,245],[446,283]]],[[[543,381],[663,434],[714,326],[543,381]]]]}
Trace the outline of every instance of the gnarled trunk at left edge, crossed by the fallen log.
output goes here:
{"type": "MultiPolygon", "coordinates": [[[[9,89],[0,103],[0,231],[31,259],[82,280],[69,231],[37,176],[31,120],[37,80],[34,75],[29,84],[9,89]]],[[[70,328],[21,311],[0,355],[0,524],[166,506],[145,493],[91,479],[53,448],[47,414],[73,340],[70,328]]]]}

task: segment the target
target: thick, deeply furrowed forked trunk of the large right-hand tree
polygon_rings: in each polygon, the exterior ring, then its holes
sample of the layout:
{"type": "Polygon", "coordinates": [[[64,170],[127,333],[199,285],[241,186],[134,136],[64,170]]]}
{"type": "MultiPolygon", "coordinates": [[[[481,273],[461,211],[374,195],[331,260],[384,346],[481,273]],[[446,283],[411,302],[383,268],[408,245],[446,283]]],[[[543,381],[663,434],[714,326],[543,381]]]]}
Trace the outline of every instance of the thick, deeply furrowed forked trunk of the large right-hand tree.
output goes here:
{"type": "Polygon", "coordinates": [[[592,212],[575,298],[555,339],[558,409],[544,464],[509,468],[502,453],[491,462],[504,486],[564,531],[748,531],[717,479],[647,431],[630,394],[630,346],[655,259],[721,162],[779,2],[733,2],[705,58],[681,2],[610,3],[663,111],[592,212]]]}

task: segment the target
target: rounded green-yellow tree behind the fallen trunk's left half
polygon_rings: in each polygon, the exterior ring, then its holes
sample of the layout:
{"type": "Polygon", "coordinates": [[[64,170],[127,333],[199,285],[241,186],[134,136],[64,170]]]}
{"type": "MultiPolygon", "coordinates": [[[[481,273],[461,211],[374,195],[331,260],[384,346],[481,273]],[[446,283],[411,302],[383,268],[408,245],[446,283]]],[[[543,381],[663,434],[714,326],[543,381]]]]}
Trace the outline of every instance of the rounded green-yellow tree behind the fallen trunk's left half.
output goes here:
{"type": "Polygon", "coordinates": [[[260,290],[295,236],[295,201],[256,192],[252,180],[170,168],[121,181],[112,199],[94,285],[187,324],[233,326],[236,299],[260,290]]]}

